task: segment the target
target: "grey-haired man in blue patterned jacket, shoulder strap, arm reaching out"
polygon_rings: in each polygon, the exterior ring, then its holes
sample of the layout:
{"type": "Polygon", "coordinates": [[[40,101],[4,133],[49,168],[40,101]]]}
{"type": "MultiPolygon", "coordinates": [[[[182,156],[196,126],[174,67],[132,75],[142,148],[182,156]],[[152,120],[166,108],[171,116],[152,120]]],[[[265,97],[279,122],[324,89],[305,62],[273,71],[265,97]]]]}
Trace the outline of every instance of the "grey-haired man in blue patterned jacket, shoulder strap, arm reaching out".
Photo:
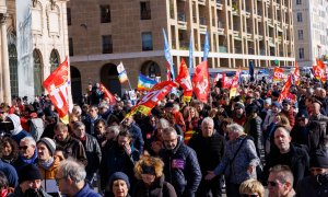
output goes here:
{"type": "Polygon", "coordinates": [[[227,130],[230,141],[224,148],[222,162],[204,179],[212,179],[224,173],[226,194],[239,196],[241,184],[248,178],[256,178],[256,166],[260,160],[253,140],[247,138],[242,126],[231,124],[227,130]]]}

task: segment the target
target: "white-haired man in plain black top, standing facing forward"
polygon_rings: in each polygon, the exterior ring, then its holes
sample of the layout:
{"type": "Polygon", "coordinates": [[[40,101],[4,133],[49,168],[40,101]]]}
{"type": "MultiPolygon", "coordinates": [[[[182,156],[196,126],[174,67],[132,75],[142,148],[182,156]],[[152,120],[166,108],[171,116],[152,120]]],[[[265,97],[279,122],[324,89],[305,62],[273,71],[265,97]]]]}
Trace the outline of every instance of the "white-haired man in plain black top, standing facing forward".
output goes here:
{"type": "MultiPolygon", "coordinates": [[[[224,138],[214,130],[214,121],[206,117],[201,123],[201,135],[194,136],[188,143],[197,153],[202,174],[215,169],[224,153],[224,138]]],[[[198,197],[222,196],[222,175],[211,181],[201,179],[197,190],[198,197]]]]}

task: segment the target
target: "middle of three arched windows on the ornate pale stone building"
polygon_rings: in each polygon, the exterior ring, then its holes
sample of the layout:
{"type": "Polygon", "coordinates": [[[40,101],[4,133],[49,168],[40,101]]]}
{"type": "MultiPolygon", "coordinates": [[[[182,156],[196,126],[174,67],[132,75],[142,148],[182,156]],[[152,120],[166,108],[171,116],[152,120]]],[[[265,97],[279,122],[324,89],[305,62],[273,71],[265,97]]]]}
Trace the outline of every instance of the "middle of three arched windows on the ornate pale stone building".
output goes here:
{"type": "Polygon", "coordinates": [[[43,74],[42,74],[42,57],[36,49],[33,51],[34,60],[34,95],[42,95],[43,89],[43,74]]]}

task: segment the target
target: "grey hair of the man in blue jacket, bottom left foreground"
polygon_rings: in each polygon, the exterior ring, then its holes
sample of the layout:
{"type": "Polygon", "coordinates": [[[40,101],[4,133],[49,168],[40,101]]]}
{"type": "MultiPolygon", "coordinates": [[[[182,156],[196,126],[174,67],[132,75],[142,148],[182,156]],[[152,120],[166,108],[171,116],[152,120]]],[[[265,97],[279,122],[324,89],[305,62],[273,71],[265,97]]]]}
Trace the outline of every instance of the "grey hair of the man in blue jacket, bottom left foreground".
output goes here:
{"type": "Polygon", "coordinates": [[[84,165],[77,162],[72,158],[60,162],[58,171],[61,172],[62,177],[70,177],[75,183],[80,183],[86,177],[84,165]]]}

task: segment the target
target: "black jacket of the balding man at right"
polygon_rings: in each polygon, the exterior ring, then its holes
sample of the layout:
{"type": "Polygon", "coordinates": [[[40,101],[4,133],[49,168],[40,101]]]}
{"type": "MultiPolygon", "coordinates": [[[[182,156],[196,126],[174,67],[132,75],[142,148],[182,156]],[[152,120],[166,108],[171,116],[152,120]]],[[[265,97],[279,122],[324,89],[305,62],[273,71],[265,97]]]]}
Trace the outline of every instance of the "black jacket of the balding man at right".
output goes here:
{"type": "Polygon", "coordinates": [[[308,171],[309,157],[305,149],[296,144],[291,143],[290,152],[281,154],[279,151],[270,151],[265,166],[265,179],[269,177],[269,169],[274,165],[289,165],[294,175],[294,188],[297,183],[304,177],[304,174],[308,171]],[[288,161],[285,161],[288,159],[288,161]]]}

